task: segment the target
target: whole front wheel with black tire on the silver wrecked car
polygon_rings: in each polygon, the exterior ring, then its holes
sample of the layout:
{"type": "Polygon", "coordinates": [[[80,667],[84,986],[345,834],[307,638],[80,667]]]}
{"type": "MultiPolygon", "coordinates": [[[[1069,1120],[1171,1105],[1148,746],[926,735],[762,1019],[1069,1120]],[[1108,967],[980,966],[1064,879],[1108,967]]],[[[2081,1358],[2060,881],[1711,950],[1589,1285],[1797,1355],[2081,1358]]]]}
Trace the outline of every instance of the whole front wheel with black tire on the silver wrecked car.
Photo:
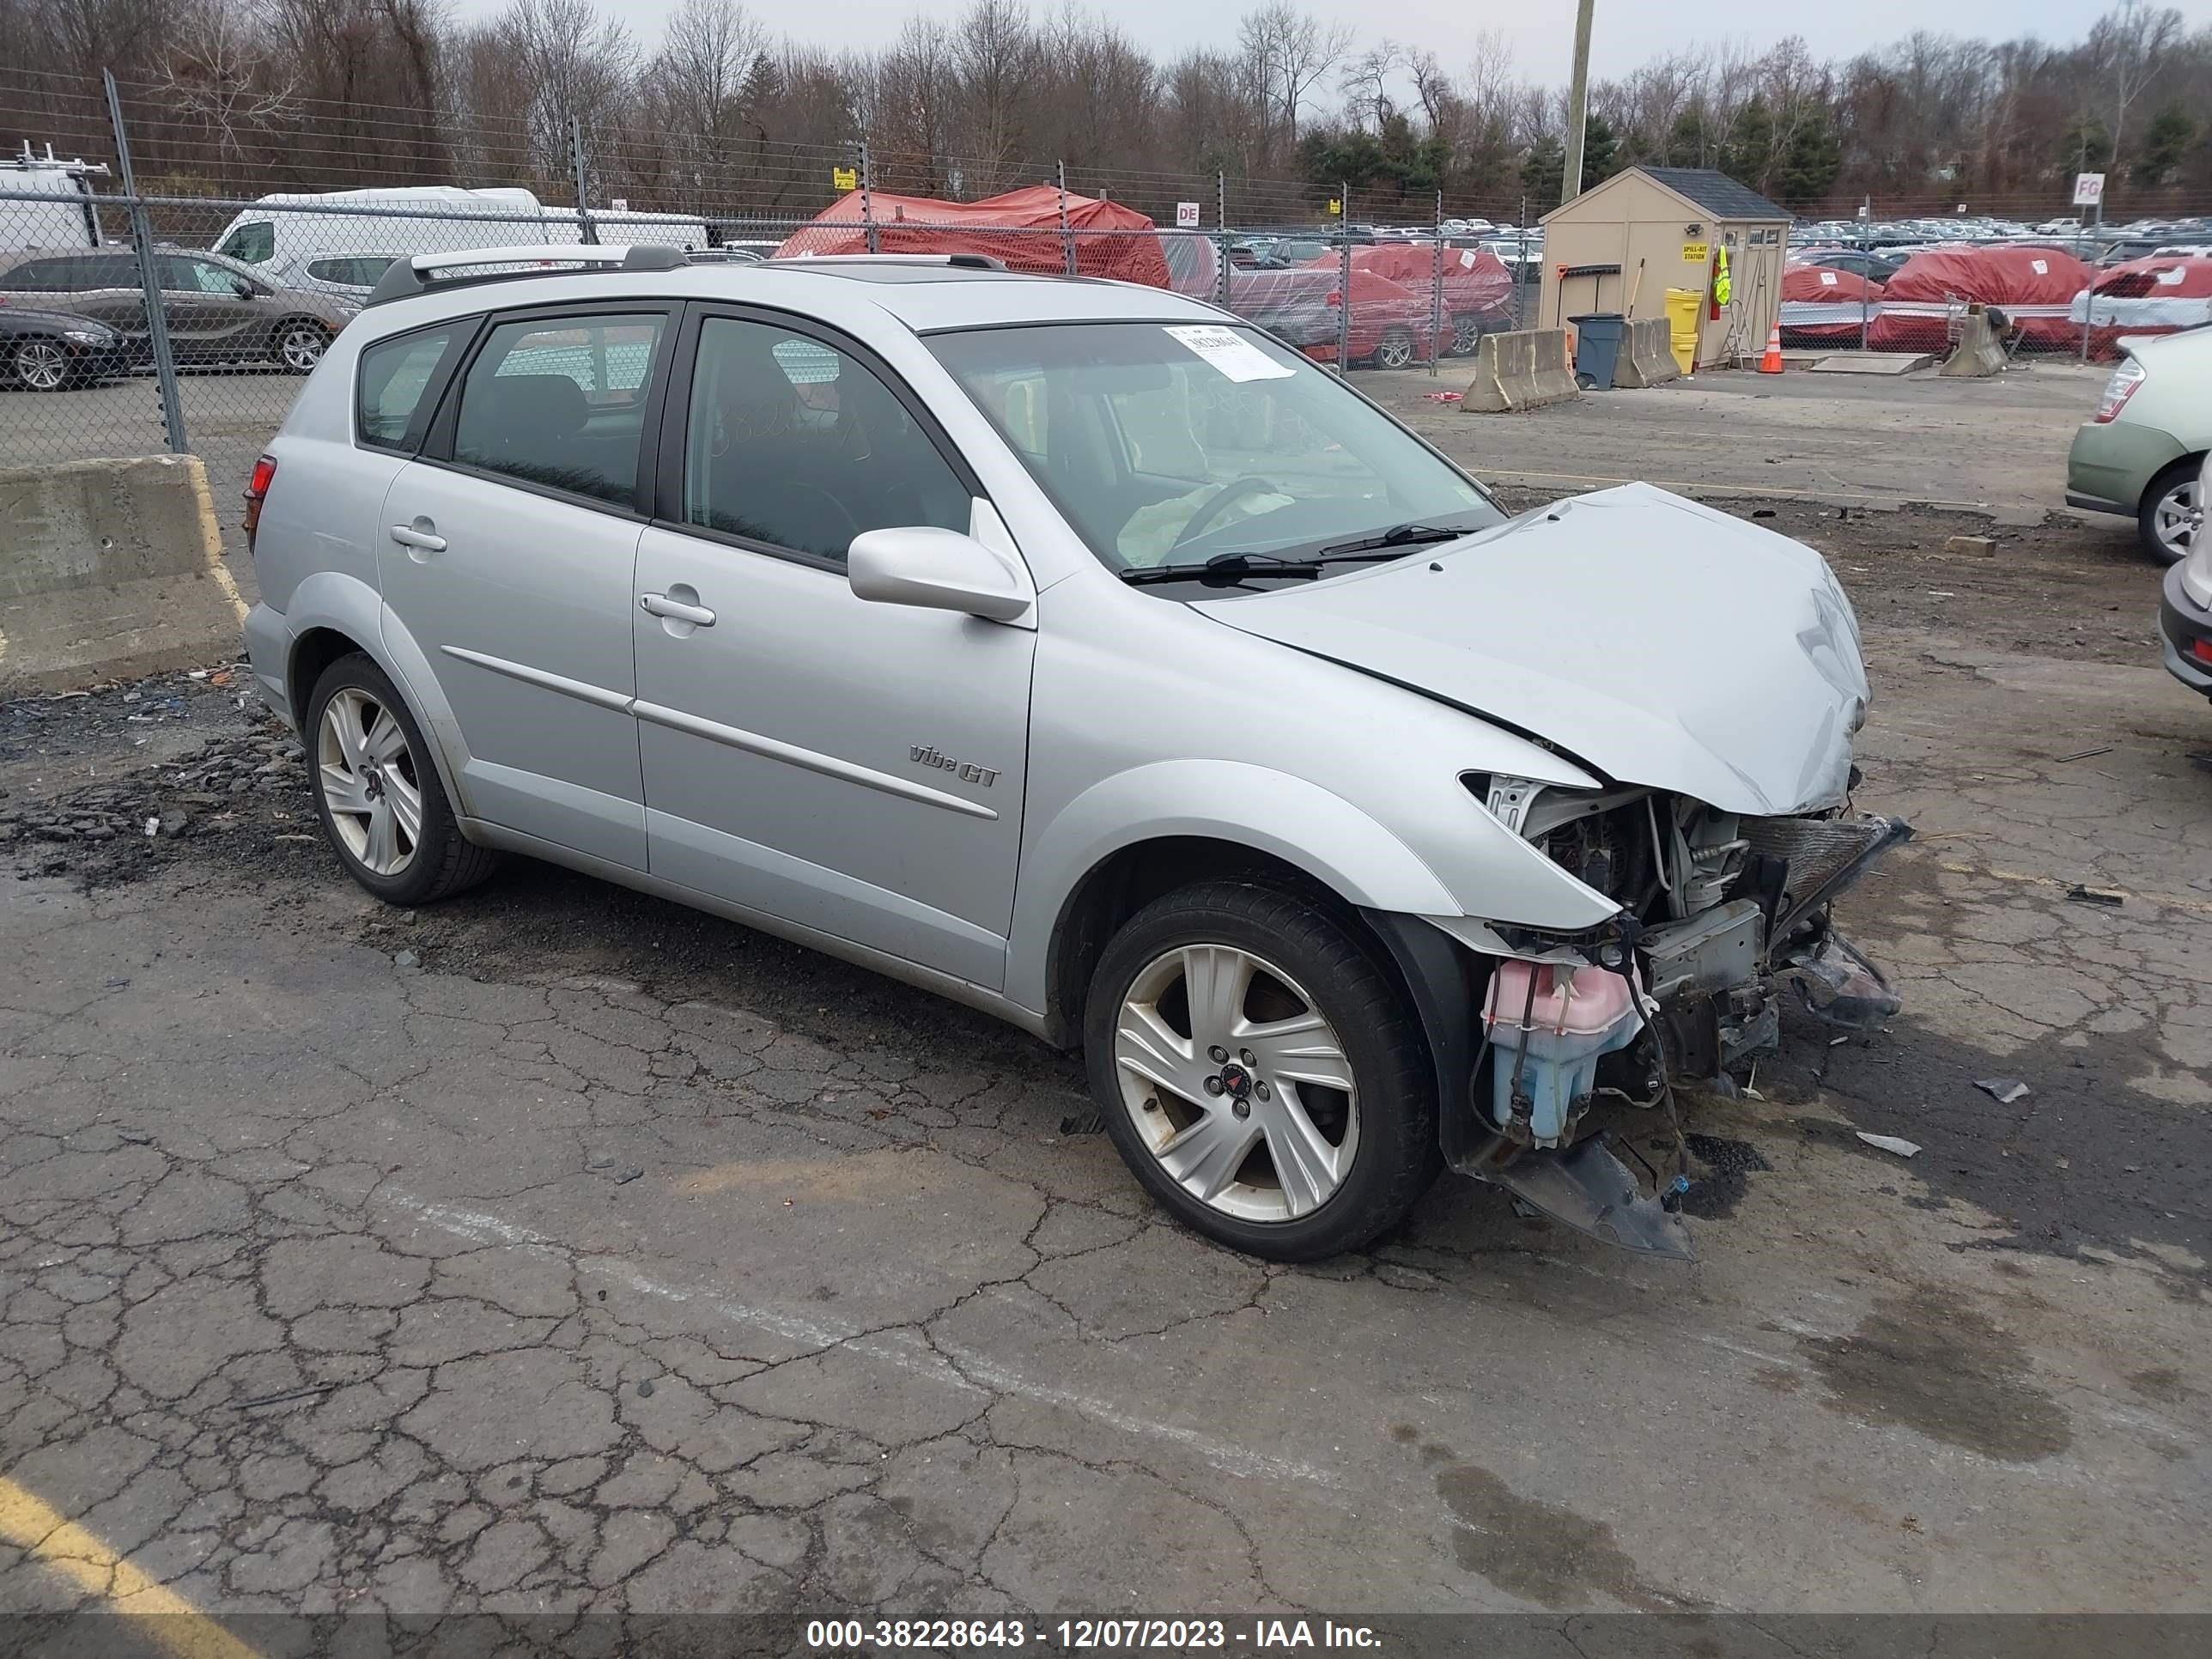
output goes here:
{"type": "Polygon", "coordinates": [[[1402,989],[1347,922],[1274,887],[1203,883],[1137,911],[1091,980],[1084,1053],[1137,1181],[1232,1250],[1356,1250],[1442,1166],[1402,989]]]}

